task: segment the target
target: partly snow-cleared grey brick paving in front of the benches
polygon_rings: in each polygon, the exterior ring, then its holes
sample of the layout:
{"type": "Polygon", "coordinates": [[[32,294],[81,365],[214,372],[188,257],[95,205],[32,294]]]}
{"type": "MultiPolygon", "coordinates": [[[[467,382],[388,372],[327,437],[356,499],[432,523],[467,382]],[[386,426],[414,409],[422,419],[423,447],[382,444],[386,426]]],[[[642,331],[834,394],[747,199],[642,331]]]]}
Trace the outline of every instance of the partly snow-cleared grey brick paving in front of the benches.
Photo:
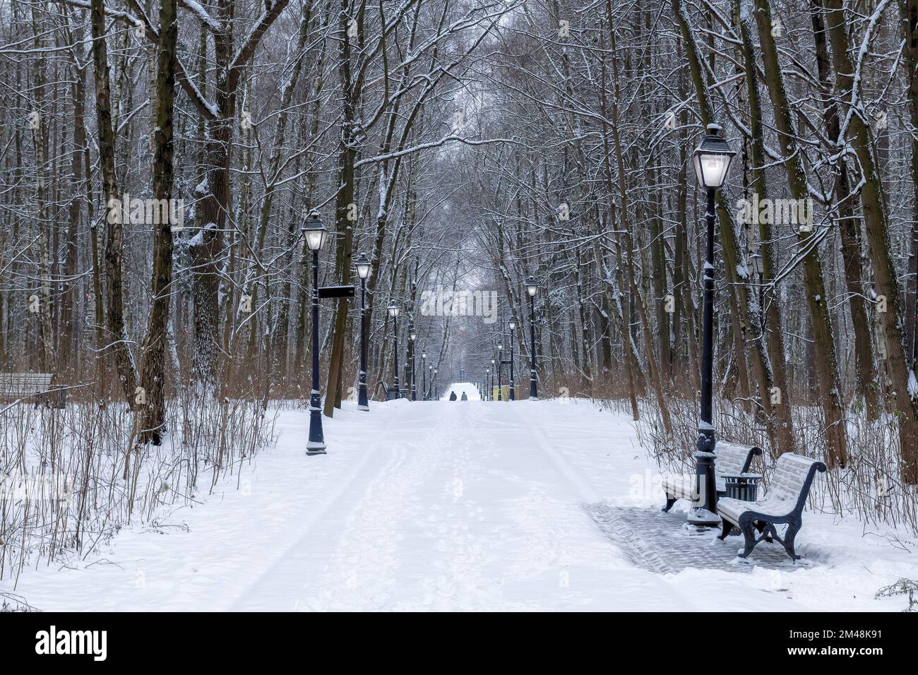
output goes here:
{"type": "MultiPolygon", "coordinates": [[[[675,573],[686,568],[715,568],[734,572],[749,572],[754,567],[793,568],[778,543],[762,542],[748,558],[736,554],[743,550],[743,535],[731,535],[725,542],[715,537],[719,531],[698,534],[686,523],[685,512],[661,512],[653,509],[628,509],[607,504],[585,507],[590,517],[615,544],[644,569],[661,574],[675,573]]],[[[780,532],[780,530],[778,530],[780,532]]],[[[806,560],[796,565],[809,566],[806,560]]]]}

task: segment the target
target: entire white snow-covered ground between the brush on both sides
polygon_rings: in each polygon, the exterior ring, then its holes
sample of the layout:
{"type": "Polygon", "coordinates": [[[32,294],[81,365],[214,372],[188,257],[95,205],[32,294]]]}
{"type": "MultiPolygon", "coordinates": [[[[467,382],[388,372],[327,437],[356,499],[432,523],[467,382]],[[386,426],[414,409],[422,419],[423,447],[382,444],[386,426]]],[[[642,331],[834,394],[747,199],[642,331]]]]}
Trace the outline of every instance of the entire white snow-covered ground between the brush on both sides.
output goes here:
{"type": "Polygon", "coordinates": [[[307,413],[282,411],[241,489],[233,478],[156,528],[26,570],[15,592],[63,611],[847,611],[901,610],[875,592],[918,579],[908,535],[812,512],[798,539],[808,566],[646,571],[583,508],[662,503],[628,418],[451,390],[472,400],[345,404],[325,420],[327,456],[306,456],[307,413]]]}

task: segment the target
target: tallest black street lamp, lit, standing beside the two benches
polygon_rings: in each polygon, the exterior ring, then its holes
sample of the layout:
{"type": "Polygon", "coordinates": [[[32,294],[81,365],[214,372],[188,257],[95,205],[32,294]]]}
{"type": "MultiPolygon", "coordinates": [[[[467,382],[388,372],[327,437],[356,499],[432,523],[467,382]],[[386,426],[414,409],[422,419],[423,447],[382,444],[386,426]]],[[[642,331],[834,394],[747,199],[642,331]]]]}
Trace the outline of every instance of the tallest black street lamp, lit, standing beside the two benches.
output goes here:
{"type": "Polygon", "coordinates": [[[733,159],[730,145],[721,136],[721,128],[708,125],[708,133],[692,158],[698,185],[707,194],[705,219],[708,226],[707,257],[704,263],[704,331],[701,355],[701,419],[698,427],[698,451],[695,474],[698,501],[689,509],[689,523],[715,526],[717,517],[717,484],[714,478],[713,369],[714,369],[714,209],[715,195],[727,177],[733,159]]]}

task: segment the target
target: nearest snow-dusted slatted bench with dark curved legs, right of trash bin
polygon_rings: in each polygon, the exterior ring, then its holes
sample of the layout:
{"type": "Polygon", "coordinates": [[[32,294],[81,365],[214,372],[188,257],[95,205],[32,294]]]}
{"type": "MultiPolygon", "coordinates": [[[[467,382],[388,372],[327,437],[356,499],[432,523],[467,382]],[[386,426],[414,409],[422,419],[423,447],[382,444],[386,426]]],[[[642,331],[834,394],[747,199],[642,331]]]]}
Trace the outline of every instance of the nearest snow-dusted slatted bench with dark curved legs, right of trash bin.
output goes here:
{"type": "Polygon", "coordinates": [[[764,497],[756,501],[727,498],[717,502],[717,512],[722,519],[722,533],[717,538],[723,541],[735,525],[745,538],[740,557],[748,557],[763,539],[771,541],[774,538],[784,546],[791,560],[799,560],[800,556],[794,552],[794,537],[800,532],[803,506],[817,471],[825,471],[825,465],[816,459],[790,453],[779,456],[764,497]],[[788,525],[783,539],[775,528],[780,523],[788,525]]]}

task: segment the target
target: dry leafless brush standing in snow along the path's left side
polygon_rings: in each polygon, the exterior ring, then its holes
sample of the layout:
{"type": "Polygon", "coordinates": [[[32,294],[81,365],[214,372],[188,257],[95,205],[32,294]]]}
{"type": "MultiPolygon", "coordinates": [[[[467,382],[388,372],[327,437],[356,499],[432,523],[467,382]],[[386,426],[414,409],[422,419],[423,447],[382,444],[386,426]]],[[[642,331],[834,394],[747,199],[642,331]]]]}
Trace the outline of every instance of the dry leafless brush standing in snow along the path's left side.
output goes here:
{"type": "MultiPolygon", "coordinates": [[[[136,443],[127,406],[18,404],[0,415],[0,579],[85,557],[129,523],[199,499],[274,438],[274,410],[187,389],[161,445],[136,443]]],[[[238,485],[238,483],[237,483],[238,485]]]]}

